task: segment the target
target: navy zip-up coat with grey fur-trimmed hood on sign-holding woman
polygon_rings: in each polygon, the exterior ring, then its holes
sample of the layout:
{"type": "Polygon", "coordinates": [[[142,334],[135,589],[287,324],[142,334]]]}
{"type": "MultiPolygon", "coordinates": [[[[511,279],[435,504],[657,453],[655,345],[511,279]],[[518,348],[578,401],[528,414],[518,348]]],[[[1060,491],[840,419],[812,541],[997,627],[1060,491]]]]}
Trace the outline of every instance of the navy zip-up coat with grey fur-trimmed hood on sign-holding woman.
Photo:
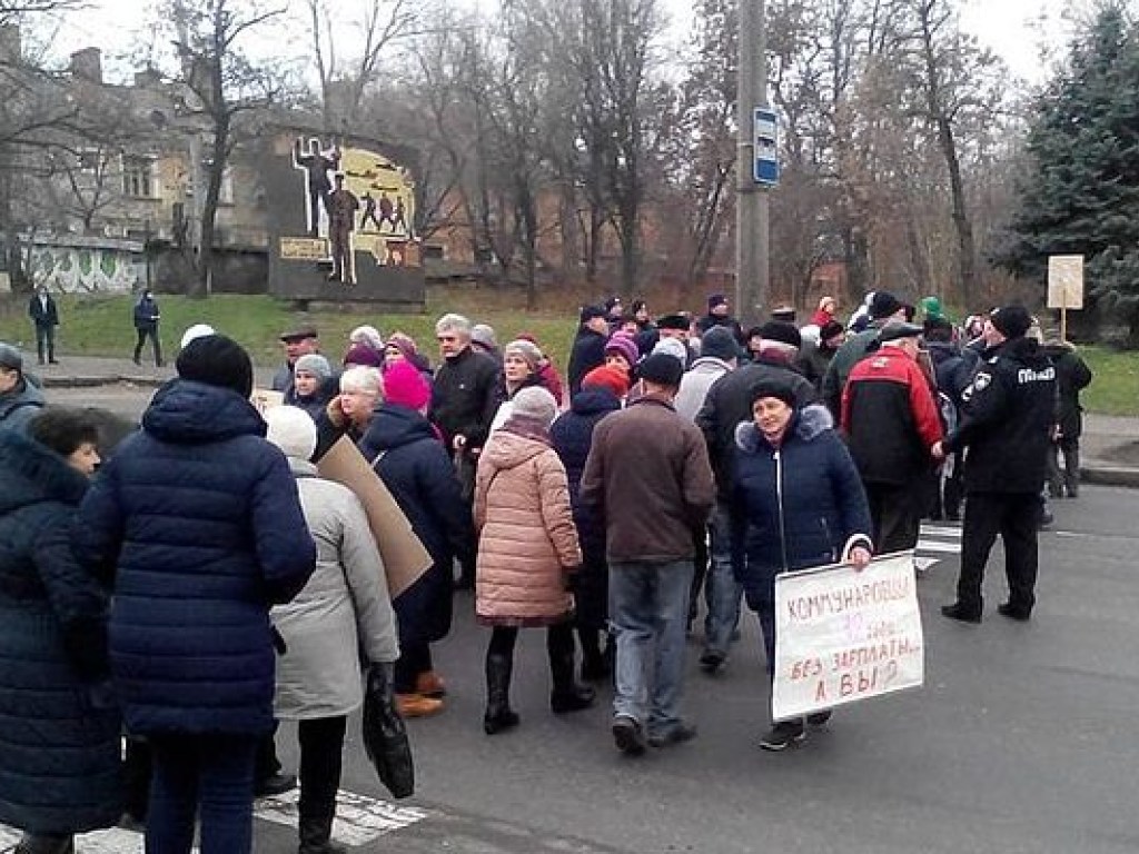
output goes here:
{"type": "Polygon", "coordinates": [[[736,428],[732,568],[753,608],[775,601],[776,575],[837,561],[853,537],[870,547],[858,469],[825,407],[804,407],[775,449],[753,421],[736,428]]]}

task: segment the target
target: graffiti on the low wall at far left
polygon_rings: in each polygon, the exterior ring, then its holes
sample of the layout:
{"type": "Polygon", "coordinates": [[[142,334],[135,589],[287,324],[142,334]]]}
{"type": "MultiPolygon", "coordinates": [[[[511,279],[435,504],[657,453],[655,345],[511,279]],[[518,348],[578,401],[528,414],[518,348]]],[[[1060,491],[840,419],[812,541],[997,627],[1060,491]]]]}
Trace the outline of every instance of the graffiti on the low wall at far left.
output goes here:
{"type": "Polygon", "coordinates": [[[129,294],[146,279],[141,255],[109,247],[33,246],[27,272],[57,294],[129,294]]]}

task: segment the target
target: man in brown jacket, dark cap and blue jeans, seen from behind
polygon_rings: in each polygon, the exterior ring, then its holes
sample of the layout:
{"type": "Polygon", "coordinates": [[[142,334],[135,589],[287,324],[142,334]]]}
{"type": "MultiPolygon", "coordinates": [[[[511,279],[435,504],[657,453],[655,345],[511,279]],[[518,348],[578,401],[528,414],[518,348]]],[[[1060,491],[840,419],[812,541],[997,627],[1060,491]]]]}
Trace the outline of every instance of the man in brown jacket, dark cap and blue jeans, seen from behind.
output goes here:
{"type": "Polygon", "coordinates": [[[680,361],[657,353],[638,373],[644,396],[597,425],[581,481],[582,503],[605,520],[609,619],[617,638],[613,738],[630,755],[645,752],[646,729],[657,747],[696,734],[678,705],[693,531],[707,524],[715,500],[704,437],[672,405],[683,376],[680,361]]]}

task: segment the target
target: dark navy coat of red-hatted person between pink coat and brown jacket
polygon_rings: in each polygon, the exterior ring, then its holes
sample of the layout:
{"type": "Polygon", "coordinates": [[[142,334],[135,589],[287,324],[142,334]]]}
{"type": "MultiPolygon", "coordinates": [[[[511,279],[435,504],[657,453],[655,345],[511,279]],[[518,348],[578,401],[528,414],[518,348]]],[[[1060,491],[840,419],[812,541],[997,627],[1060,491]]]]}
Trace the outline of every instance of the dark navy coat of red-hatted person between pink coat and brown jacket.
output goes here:
{"type": "Polygon", "coordinates": [[[605,388],[583,388],[573,396],[568,412],[550,427],[550,442],[566,467],[570,482],[570,504],[581,542],[582,565],[574,577],[574,600],[577,624],[585,629],[604,629],[608,615],[608,564],[605,560],[605,520],[579,498],[581,476],[585,470],[593,428],[611,412],[621,409],[617,396],[605,388]]]}

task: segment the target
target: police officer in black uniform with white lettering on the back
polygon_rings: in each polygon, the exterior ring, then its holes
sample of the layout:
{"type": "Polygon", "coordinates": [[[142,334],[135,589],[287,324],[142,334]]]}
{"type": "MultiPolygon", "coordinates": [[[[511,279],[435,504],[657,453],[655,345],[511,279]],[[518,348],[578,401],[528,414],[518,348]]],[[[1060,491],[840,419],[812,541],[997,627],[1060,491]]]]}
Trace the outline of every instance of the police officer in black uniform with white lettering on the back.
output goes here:
{"type": "Polygon", "coordinates": [[[985,350],[961,394],[962,418],[934,453],[968,449],[965,524],[957,601],[941,613],[980,623],[981,582],[989,552],[1001,535],[1008,601],[997,610],[1026,621],[1036,599],[1036,529],[1056,422],[1056,369],[1035,340],[1025,337],[1032,317],[1019,305],[994,311],[985,323],[985,350]]]}

